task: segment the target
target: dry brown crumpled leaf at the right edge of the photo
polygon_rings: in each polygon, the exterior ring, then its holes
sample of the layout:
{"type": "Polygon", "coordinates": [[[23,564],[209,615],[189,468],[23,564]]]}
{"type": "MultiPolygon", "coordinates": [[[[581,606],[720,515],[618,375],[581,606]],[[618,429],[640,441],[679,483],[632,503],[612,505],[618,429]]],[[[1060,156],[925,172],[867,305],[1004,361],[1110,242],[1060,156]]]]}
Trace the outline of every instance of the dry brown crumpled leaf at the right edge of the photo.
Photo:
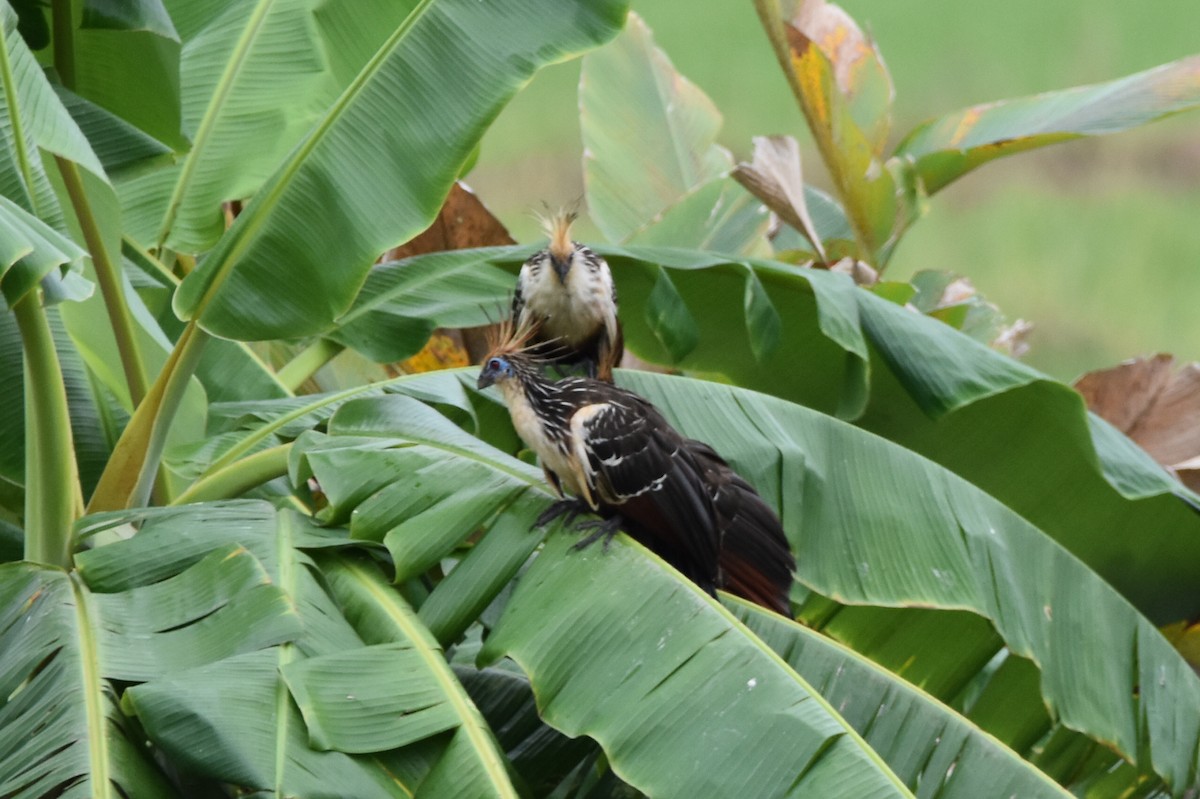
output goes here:
{"type": "Polygon", "coordinates": [[[1085,374],[1075,390],[1151,457],[1200,486],[1200,364],[1176,370],[1171,355],[1139,358],[1085,374]]]}

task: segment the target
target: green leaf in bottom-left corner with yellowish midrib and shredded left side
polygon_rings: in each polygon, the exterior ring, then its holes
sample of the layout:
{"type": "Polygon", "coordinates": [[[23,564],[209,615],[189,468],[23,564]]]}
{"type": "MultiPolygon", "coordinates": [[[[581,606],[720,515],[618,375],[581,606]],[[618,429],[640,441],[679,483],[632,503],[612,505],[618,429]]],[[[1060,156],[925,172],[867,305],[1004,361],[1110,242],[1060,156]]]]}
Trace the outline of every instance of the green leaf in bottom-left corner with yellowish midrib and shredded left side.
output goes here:
{"type": "Polygon", "coordinates": [[[289,641],[287,597],[246,549],[206,542],[186,565],[130,575],[136,539],[80,555],[80,571],[0,566],[4,795],[172,795],[110,680],[162,679],[289,641]],[[36,733],[36,734],[35,734],[36,733]],[[48,758],[49,752],[55,752],[48,758]],[[56,792],[61,791],[61,794],[56,792]]]}

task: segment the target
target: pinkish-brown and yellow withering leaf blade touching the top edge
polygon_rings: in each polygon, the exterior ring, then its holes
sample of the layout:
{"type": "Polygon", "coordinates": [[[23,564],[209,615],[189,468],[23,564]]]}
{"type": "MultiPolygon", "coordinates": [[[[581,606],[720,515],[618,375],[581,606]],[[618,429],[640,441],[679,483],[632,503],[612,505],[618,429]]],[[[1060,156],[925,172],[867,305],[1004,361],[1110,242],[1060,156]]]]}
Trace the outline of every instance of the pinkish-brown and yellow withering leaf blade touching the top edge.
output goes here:
{"type": "Polygon", "coordinates": [[[892,127],[895,88],[875,42],[853,17],[826,0],[796,4],[791,22],[829,59],[838,90],[846,97],[851,116],[863,130],[875,155],[881,155],[892,127]]]}

